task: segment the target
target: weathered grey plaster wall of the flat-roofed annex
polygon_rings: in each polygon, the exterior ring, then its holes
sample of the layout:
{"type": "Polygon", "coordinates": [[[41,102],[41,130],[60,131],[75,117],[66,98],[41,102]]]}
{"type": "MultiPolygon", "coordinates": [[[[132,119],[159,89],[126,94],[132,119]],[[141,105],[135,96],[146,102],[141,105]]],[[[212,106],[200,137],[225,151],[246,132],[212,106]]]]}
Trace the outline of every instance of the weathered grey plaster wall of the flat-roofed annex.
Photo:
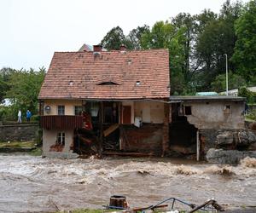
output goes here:
{"type": "Polygon", "coordinates": [[[244,129],[242,101],[186,102],[183,106],[191,106],[192,114],[186,116],[198,129],[244,129]]]}

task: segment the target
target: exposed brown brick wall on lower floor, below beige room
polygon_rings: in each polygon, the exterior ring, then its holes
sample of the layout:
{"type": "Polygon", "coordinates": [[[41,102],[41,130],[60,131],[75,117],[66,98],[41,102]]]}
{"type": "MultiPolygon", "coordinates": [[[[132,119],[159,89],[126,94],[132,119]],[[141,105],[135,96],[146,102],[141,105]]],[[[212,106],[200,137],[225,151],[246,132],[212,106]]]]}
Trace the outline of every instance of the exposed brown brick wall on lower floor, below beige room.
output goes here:
{"type": "Polygon", "coordinates": [[[120,131],[122,149],[126,152],[162,153],[163,124],[143,124],[137,128],[124,125],[120,131]]]}

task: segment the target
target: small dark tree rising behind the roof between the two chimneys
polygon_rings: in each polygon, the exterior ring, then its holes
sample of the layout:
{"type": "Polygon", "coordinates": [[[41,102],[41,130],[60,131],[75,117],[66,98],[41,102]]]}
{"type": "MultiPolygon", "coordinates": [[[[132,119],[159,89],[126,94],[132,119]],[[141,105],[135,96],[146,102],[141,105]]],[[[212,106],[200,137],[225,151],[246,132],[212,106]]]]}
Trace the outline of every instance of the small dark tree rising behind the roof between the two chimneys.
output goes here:
{"type": "Polygon", "coordinates": [[[108,50],[120,49],[122,44],[127,44],[123,30],[119,27],[113,27],[105,37],[103,37],[102,46],[108,50]]]}

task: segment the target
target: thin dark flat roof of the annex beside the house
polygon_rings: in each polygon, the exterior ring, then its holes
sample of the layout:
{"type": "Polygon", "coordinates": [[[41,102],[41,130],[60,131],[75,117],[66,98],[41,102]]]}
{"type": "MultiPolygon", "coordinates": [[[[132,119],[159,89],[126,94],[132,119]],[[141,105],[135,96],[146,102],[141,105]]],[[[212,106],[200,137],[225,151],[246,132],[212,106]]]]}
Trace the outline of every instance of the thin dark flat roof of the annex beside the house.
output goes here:
{"type": "Polygon", "coordinates": [[[170,102],[199,102],[199,101],[245,101],[244,97],[231,95],[196,95],[196,96],[170,96],[170,102]]]}

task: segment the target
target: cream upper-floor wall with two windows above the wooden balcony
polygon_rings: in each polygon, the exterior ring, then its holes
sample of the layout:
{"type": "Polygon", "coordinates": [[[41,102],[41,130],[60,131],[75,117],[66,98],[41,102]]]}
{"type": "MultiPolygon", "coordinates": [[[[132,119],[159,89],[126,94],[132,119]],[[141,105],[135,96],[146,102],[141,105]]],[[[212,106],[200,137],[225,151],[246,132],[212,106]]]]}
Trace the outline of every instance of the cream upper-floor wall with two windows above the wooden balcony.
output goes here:
{"type": "Polygon", "coordinates": [[[79,101],[79,100],[46,100],[46,101],[44,101],[44,108],[45,108],[45,106],[49,106],[50,112],[46,113],[44,110],[44,115],[57,115],[59,105],[65,106],[65,115],[74,115],[74,107],[82,106],[82,101],[79,101]]]}

